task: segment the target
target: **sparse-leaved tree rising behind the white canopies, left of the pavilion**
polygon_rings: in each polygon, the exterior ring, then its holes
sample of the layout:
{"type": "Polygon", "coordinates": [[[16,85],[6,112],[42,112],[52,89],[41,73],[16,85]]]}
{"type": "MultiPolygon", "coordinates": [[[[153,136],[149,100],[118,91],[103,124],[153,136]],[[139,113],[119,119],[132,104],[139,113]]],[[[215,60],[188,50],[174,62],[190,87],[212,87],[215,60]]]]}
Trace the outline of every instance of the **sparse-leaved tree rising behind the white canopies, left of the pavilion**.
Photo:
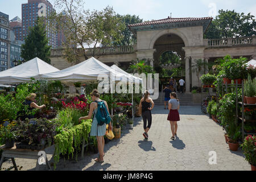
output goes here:
{"type": "Polygon", "coordinates": [[[81,0],[55,0],[55,6],[62,13],[52,13],[50,19],[64,33],[64,57],[69,62],[77,63],[80,56],[85,59],[88,55],[100,57],[103,52],[97,48],[99,44],[113,46],[114,40],[122,39],[125,24],[112,7],[89,11],[84,9],[81,0]]]}

